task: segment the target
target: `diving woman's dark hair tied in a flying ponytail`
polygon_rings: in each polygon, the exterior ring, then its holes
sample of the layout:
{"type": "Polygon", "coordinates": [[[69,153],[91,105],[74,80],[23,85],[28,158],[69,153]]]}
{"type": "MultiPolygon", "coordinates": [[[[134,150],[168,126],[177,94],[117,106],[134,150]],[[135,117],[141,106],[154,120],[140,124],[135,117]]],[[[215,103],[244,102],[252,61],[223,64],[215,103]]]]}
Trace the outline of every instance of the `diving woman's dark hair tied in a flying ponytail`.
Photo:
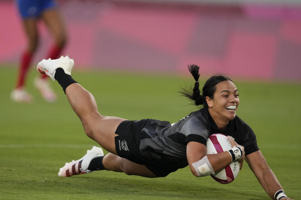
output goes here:
{"type": "Polygon", "coordinates": [[[182,91],[180,93],[182,94],[182,96],[192,100],[193,103],[197,106],[203,105],[205,108],[208,108],[208,104],[205,98],[209,97],[210,99],[213,99],[215,93],[215,86],[218,83],[222,81],[231,81],[233,83],[233,81],[228,77],[224,77],[222,75],[212,76],[204,84],[201,93],[198,83],[198,78],[200,77],[200,74],[198,73],[199,67],[197,65],[188,65],[188,70],[195,80],[194,87],[192,91],[191,89],[187,90],[185,88],[182,88],[182,91]]]}

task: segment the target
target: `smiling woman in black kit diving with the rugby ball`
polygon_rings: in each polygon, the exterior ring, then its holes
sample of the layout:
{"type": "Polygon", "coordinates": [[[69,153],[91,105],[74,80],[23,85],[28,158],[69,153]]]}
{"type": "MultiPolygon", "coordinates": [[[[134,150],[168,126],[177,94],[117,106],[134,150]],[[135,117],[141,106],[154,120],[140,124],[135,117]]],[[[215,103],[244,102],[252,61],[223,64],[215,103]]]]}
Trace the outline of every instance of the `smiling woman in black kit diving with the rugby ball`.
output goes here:
{"type": "Polygon", "coordinates": [[[189,165],[194,176],[202,177],[214,174],[234,160],[240,163],[241,169],[245,159],[271,198],[289,200],[260,152],[254,132],[236,116],[239,94],[230,78],[209,78],[201,93],[199,67],[191,65],[188,68],[196,81],[193,93],[184,90],[182,94],[203,108],[173,124],[155,119],[129,121],[102,116],[92,94],[71,77],[73,65],[69,56],[62,56],[42,60],[37,70],[58,81],[87,136],[110,153],[103,155],[101,148],[93,147],[81,159],[66,163],[59,176],[106,169],[156,178],[189,165]],[[207,139],[214,133],[228,135],[232,149],[206,154],[207,139]]]}

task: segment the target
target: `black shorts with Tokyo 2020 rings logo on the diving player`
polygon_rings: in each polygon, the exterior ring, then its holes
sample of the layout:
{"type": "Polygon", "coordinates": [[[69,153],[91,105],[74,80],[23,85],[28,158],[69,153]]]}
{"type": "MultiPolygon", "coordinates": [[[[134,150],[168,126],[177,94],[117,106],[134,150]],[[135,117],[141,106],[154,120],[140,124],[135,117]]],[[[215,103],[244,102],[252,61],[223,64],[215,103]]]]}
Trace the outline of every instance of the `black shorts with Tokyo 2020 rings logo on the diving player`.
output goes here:
{"type": "Polygon", "coordinates": [[[134,163],[145,165],[152,173],[158,177],[166,177],[169,173],[176,171],[178,168],[172,166],[154,163],[145,158],[140,153],[140,139],[142,129],[149,123],[156,122],[155,119],[142,119],[135,121],[124,121],[119,124],[115,137],[115,148],[118,156],[126,158],[134,163]]]}

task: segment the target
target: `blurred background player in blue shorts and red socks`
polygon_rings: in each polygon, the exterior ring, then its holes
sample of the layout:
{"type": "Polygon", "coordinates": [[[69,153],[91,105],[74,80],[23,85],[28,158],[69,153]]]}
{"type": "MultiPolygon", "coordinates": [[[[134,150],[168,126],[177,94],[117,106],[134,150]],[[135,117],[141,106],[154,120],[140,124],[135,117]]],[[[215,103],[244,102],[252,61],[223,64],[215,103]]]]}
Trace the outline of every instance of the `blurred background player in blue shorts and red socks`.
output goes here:
{"type": "MultiPolygon", "coordinates": [[[[66,44],[66,30],[57,9],[57,3],[54,0],[17,0],[16,3],[22,17],[28,45],[21,56],[17,83],[11,93],[11,99],[15,102],[30,103],[33,97],[24,89],[24,84],[32,57],[38,47],[39,31],[37,22],[42,19],[54,37],[54,44],[50,47],[47,58],[58,58],[66,44]]],[[[39,90],[45,101],[54,102],[56,100],[56,94],[50,88],[47,75],[43,74],[39,78],[36,77],[34,86],[39,90]]]]}

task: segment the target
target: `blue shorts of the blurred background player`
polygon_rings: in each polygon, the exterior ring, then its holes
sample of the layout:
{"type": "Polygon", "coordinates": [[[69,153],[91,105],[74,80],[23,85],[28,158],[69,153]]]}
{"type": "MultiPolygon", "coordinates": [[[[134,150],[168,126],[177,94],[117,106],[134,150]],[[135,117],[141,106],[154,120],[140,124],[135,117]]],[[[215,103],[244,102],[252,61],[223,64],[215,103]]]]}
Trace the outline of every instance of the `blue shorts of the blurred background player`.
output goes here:
{"type": "Polygon", "coordinates": [[[22,18],[38,18],[41,13],[49,8],[56,8],[54,0],[17,0],[17,5],[22,18]]]}

